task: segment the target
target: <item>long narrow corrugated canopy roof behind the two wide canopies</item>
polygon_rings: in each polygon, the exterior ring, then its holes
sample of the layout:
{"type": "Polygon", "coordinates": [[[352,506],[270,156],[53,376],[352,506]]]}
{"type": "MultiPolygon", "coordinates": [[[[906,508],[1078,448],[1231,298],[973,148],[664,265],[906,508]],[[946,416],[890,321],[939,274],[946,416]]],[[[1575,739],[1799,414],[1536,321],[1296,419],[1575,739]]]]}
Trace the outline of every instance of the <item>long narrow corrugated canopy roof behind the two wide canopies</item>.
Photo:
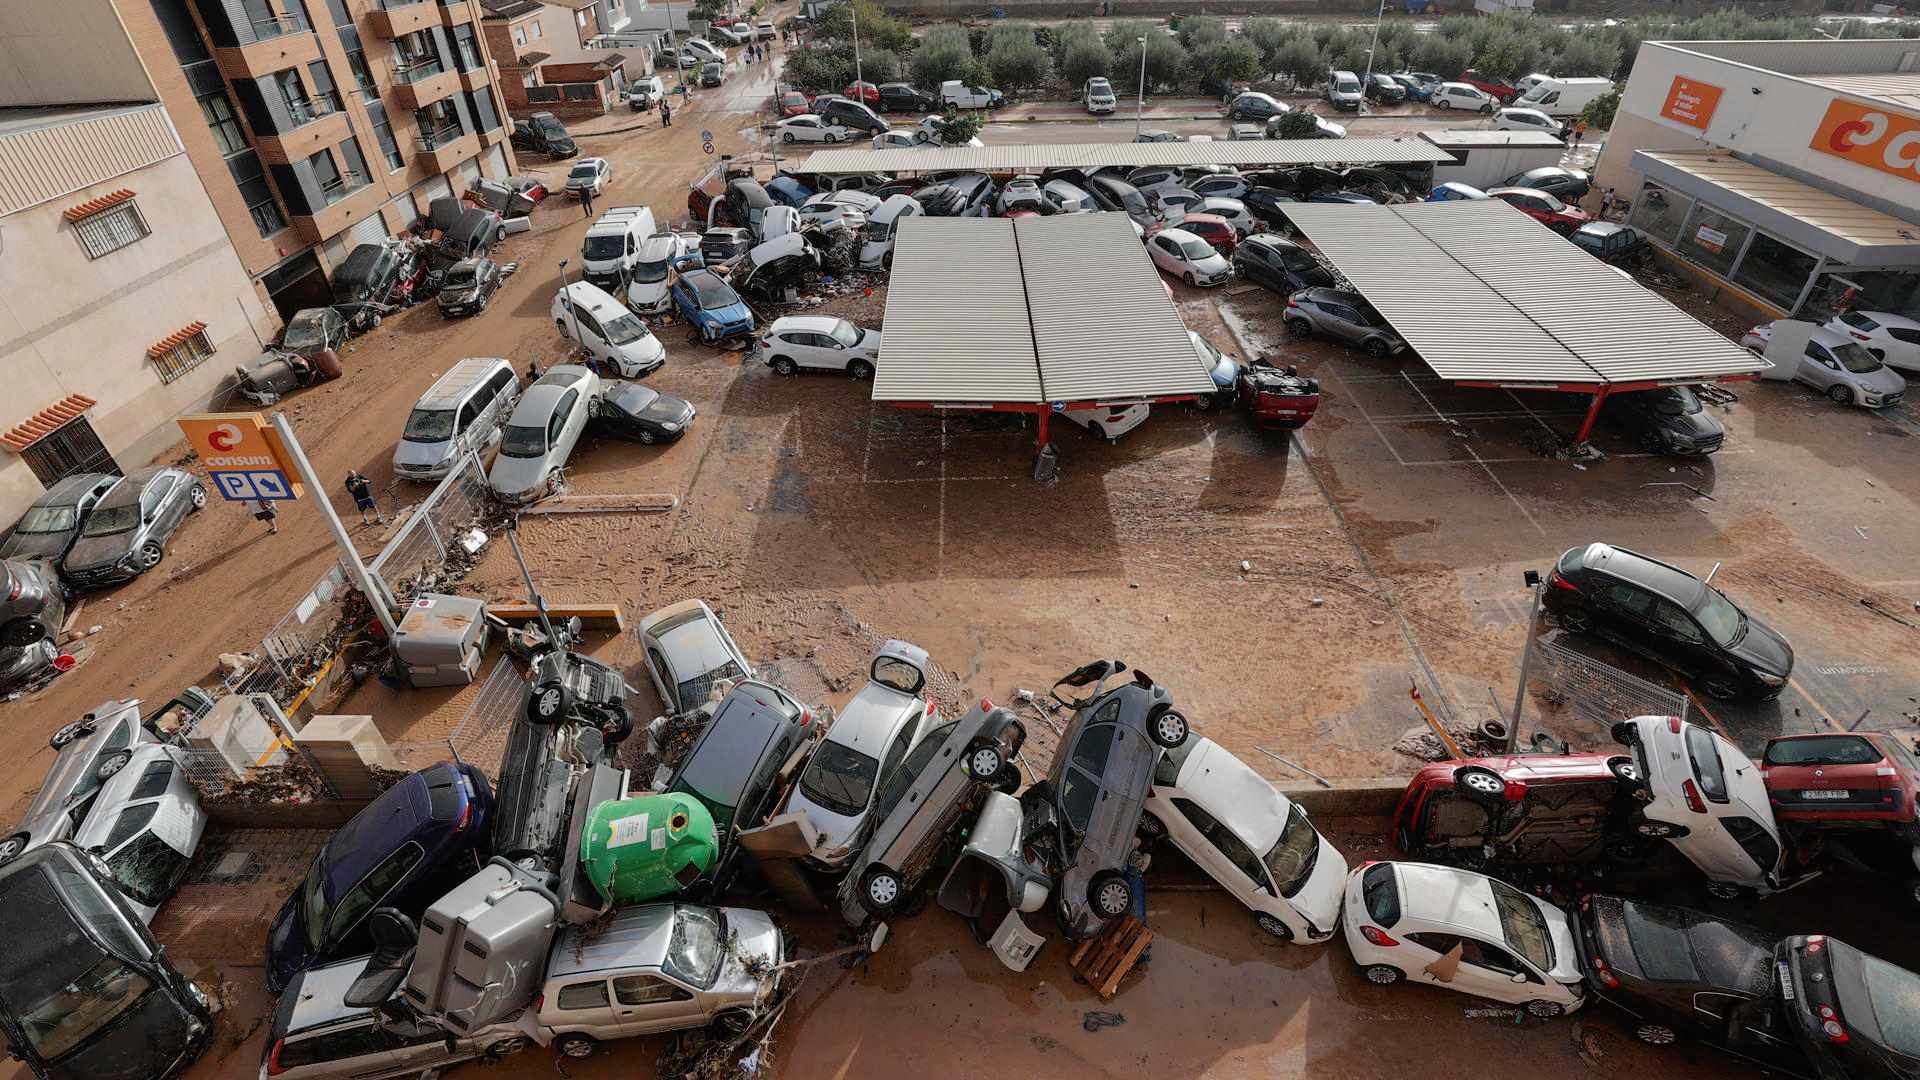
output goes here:
{"type": "Polygon", "coordinates": [[[1075,142],[1058,146],[920,146],[818,150],[795,173],[1039,173],[1100,165],[1394,165],[1452,161],[1423,138],[1246,138],[1215,142],[1075,142]]]}

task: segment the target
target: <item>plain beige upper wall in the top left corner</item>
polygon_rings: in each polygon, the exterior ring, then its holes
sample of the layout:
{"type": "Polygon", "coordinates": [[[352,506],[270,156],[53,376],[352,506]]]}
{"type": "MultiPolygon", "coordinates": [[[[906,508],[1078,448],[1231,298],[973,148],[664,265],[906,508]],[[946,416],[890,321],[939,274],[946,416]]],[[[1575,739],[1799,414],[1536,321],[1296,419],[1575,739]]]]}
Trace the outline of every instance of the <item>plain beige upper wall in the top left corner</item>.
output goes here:
{"type": "Polygon", "coordinates": [[[154,86],[111,4],[0,2],[0,106],[150,100],[154,86]]]}

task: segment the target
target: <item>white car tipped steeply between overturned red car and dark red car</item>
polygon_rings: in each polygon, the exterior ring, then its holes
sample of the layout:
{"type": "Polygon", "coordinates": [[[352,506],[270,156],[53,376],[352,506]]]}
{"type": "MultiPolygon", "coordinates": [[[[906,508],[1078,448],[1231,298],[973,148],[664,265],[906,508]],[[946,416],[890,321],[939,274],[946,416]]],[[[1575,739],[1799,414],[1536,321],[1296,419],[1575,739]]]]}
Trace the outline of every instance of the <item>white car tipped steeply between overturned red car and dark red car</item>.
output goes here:
{"type": "Polygon", "coordinates": [[[1647,801],[1634,821],[1642,836],[1667,840],[1707,874],[1707,892],[1778,892],[1786,847],[1761,769],[1732,742],[1680,717],[1634,717],[1613,724],[1634,751],[1647,801]]]}

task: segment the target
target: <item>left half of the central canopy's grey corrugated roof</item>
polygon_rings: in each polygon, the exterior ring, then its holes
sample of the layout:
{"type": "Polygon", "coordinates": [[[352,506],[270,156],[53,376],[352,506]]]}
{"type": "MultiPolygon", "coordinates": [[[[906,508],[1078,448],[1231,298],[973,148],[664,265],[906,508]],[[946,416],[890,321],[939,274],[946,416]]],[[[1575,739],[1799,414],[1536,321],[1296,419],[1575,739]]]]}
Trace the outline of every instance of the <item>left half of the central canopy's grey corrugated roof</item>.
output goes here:
{"type": "Polygon", "coordinates": [[[900,221],[881,331],[876,402],[1046,400],[1010,219],[900,221]]]}

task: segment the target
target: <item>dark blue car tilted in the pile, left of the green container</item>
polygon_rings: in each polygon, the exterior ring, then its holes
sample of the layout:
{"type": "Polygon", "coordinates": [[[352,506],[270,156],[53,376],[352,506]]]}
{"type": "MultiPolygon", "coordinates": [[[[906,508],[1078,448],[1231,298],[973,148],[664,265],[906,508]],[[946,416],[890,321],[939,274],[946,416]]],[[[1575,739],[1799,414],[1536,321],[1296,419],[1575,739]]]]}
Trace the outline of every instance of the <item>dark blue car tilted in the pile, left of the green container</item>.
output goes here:
{"type": "Polygon", "coordinates": [[[367,913],[419,917],[488,857],[493,792],[472,765],[442,761],[388,788],[334,832],[267,930],[267,986],[372,949],[367,913]]]}

